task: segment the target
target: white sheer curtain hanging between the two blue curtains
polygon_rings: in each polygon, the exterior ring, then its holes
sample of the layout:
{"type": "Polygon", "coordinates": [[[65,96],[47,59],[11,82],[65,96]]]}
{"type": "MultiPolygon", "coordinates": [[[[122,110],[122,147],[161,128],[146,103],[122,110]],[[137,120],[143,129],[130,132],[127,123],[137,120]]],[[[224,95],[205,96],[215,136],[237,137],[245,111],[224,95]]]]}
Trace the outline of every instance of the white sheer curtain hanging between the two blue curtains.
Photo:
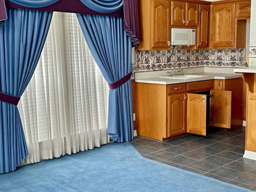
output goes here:
{"type": "Polygon", "coordinates": [[[109,142],[108,84],[75,14],[54,12],[34,76],[18,104],[29,155],[24,163],[109,142]]]}

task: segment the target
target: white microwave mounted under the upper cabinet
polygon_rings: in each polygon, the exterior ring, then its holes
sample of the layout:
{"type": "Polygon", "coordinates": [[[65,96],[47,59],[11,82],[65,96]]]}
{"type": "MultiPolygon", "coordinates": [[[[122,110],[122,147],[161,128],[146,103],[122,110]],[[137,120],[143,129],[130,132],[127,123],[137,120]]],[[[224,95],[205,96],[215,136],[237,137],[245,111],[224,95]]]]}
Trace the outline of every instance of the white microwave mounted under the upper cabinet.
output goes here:
{"type": "Polygon", "coordinates": [[[171,45],[189,46],[196,44],[196,30],[186,28],[172,28],[171,45]]]}

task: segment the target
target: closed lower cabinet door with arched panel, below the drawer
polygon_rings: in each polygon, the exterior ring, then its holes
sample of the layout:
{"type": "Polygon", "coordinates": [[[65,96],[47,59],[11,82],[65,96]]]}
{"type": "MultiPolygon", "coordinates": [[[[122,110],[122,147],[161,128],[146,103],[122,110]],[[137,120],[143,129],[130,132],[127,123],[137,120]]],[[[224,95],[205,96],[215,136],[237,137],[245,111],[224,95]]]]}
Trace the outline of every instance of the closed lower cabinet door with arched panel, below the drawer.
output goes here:
{"type": "Polygon", "coordinates": [[[168,95],[167,137],[186,133],[185,93],[168,95]]]}

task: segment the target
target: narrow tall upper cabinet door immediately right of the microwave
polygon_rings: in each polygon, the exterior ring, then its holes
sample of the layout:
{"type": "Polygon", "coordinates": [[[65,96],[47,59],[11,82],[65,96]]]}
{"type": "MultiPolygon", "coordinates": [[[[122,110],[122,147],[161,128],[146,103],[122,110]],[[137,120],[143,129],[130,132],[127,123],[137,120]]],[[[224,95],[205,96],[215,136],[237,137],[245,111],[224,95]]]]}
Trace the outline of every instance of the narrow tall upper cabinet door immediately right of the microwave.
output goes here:
{"type": "Polygon", "coordinates": [[[209,46],[209,26],[210,26],[210,7],[209,5],[199,4],[199,23],[198,23],[198,48],[209,46]]]}

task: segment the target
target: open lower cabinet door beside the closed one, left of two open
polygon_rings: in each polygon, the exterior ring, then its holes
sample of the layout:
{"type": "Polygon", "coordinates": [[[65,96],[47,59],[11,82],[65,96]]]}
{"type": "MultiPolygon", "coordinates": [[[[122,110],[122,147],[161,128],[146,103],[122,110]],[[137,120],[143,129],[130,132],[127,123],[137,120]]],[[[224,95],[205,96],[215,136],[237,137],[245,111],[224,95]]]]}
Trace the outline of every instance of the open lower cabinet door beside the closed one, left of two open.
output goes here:
{"type": "Polygon", "coordinates": [[[187,94],[187,132],[206,136],[206,95],[187,94]]]}

